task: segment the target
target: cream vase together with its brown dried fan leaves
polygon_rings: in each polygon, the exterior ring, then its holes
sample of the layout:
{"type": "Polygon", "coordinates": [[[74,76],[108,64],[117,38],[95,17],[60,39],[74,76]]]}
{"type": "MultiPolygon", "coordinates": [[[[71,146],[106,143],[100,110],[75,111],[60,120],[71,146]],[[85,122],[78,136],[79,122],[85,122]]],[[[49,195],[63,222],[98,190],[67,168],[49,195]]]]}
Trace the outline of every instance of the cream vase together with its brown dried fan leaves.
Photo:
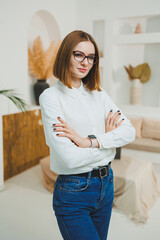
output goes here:
{"type": "Polygon", "coordinates": [[[149,81],[151,77],[151,69],[148,63],[143,63],[135,68],[131,65],[127,68],[124,66],[128,73],[129,80],[132,81],[130,101],[131,104],[141,104],[142,99],[142,83],[149,81]]]}

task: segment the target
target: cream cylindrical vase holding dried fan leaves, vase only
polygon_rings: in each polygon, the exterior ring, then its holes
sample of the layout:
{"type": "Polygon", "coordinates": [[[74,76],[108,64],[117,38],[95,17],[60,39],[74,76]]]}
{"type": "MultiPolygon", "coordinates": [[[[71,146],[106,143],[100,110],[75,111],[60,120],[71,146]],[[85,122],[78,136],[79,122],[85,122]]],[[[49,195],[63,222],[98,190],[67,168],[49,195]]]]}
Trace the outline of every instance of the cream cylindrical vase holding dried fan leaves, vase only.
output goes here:
{"type": "Polygon", "coordinates": [[[142,101],[142,83],[139,79],[132,80],[130,102],[131,104],[141,104],[142,101]]]}

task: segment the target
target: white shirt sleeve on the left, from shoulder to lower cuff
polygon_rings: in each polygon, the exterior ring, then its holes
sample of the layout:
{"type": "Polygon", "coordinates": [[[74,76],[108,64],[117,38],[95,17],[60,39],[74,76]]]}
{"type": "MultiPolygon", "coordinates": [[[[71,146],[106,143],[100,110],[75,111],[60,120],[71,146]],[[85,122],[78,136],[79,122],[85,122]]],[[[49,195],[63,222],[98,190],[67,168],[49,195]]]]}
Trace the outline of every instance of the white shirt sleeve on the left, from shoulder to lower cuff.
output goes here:
{"type": "Polygon", "coordinates": [[[77,168],[89,163],[99,162],[107,156],[106,149],[81,148],[67,137],[57,137],[53,124],[58,123],[57,117],[65,120],[58,98],[43,92],[39,98],[46,144],[59,157],[59,161],[67,168],[77,168]]]}

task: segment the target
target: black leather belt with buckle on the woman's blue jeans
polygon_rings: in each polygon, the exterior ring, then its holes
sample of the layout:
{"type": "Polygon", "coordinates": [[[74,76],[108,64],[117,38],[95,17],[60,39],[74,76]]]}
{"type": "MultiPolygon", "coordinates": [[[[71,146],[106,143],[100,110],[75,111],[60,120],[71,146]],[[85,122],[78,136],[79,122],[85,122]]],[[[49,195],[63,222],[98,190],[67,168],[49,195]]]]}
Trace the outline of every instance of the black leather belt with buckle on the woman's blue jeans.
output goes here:
{"type": "MultiPolygon", "coordinates": [[[[91,177],[105,177],[108,175],[109,170],[111,168],[111,162],[108,163],[108,165],[98,167],[98,169],[94,169],[91,172],[91,177]]],[[[88,173],[78,173],[78,174],[71,174],[72,176],[78,176],[78,177],[88,177],[88,173]]]]}

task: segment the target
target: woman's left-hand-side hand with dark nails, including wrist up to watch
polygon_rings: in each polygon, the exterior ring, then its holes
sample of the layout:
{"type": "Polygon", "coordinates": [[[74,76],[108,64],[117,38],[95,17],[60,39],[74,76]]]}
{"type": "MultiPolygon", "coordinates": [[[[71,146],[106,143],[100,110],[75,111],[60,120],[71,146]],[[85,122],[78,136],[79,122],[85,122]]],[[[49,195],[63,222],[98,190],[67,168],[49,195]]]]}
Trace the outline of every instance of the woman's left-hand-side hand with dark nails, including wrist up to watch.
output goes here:
{"type": "Polygon", "coordinates": [[[74,131],[67,122],[62,120],[60,117],[57,118],[60,123],[53,124],[54,132],[60,132],[57,133],[57,137],[68,137],[72,142],[74,142],[78,147],[90,147],[91,142],[87,138],[82,138],[76,131],[74,131]]]}

